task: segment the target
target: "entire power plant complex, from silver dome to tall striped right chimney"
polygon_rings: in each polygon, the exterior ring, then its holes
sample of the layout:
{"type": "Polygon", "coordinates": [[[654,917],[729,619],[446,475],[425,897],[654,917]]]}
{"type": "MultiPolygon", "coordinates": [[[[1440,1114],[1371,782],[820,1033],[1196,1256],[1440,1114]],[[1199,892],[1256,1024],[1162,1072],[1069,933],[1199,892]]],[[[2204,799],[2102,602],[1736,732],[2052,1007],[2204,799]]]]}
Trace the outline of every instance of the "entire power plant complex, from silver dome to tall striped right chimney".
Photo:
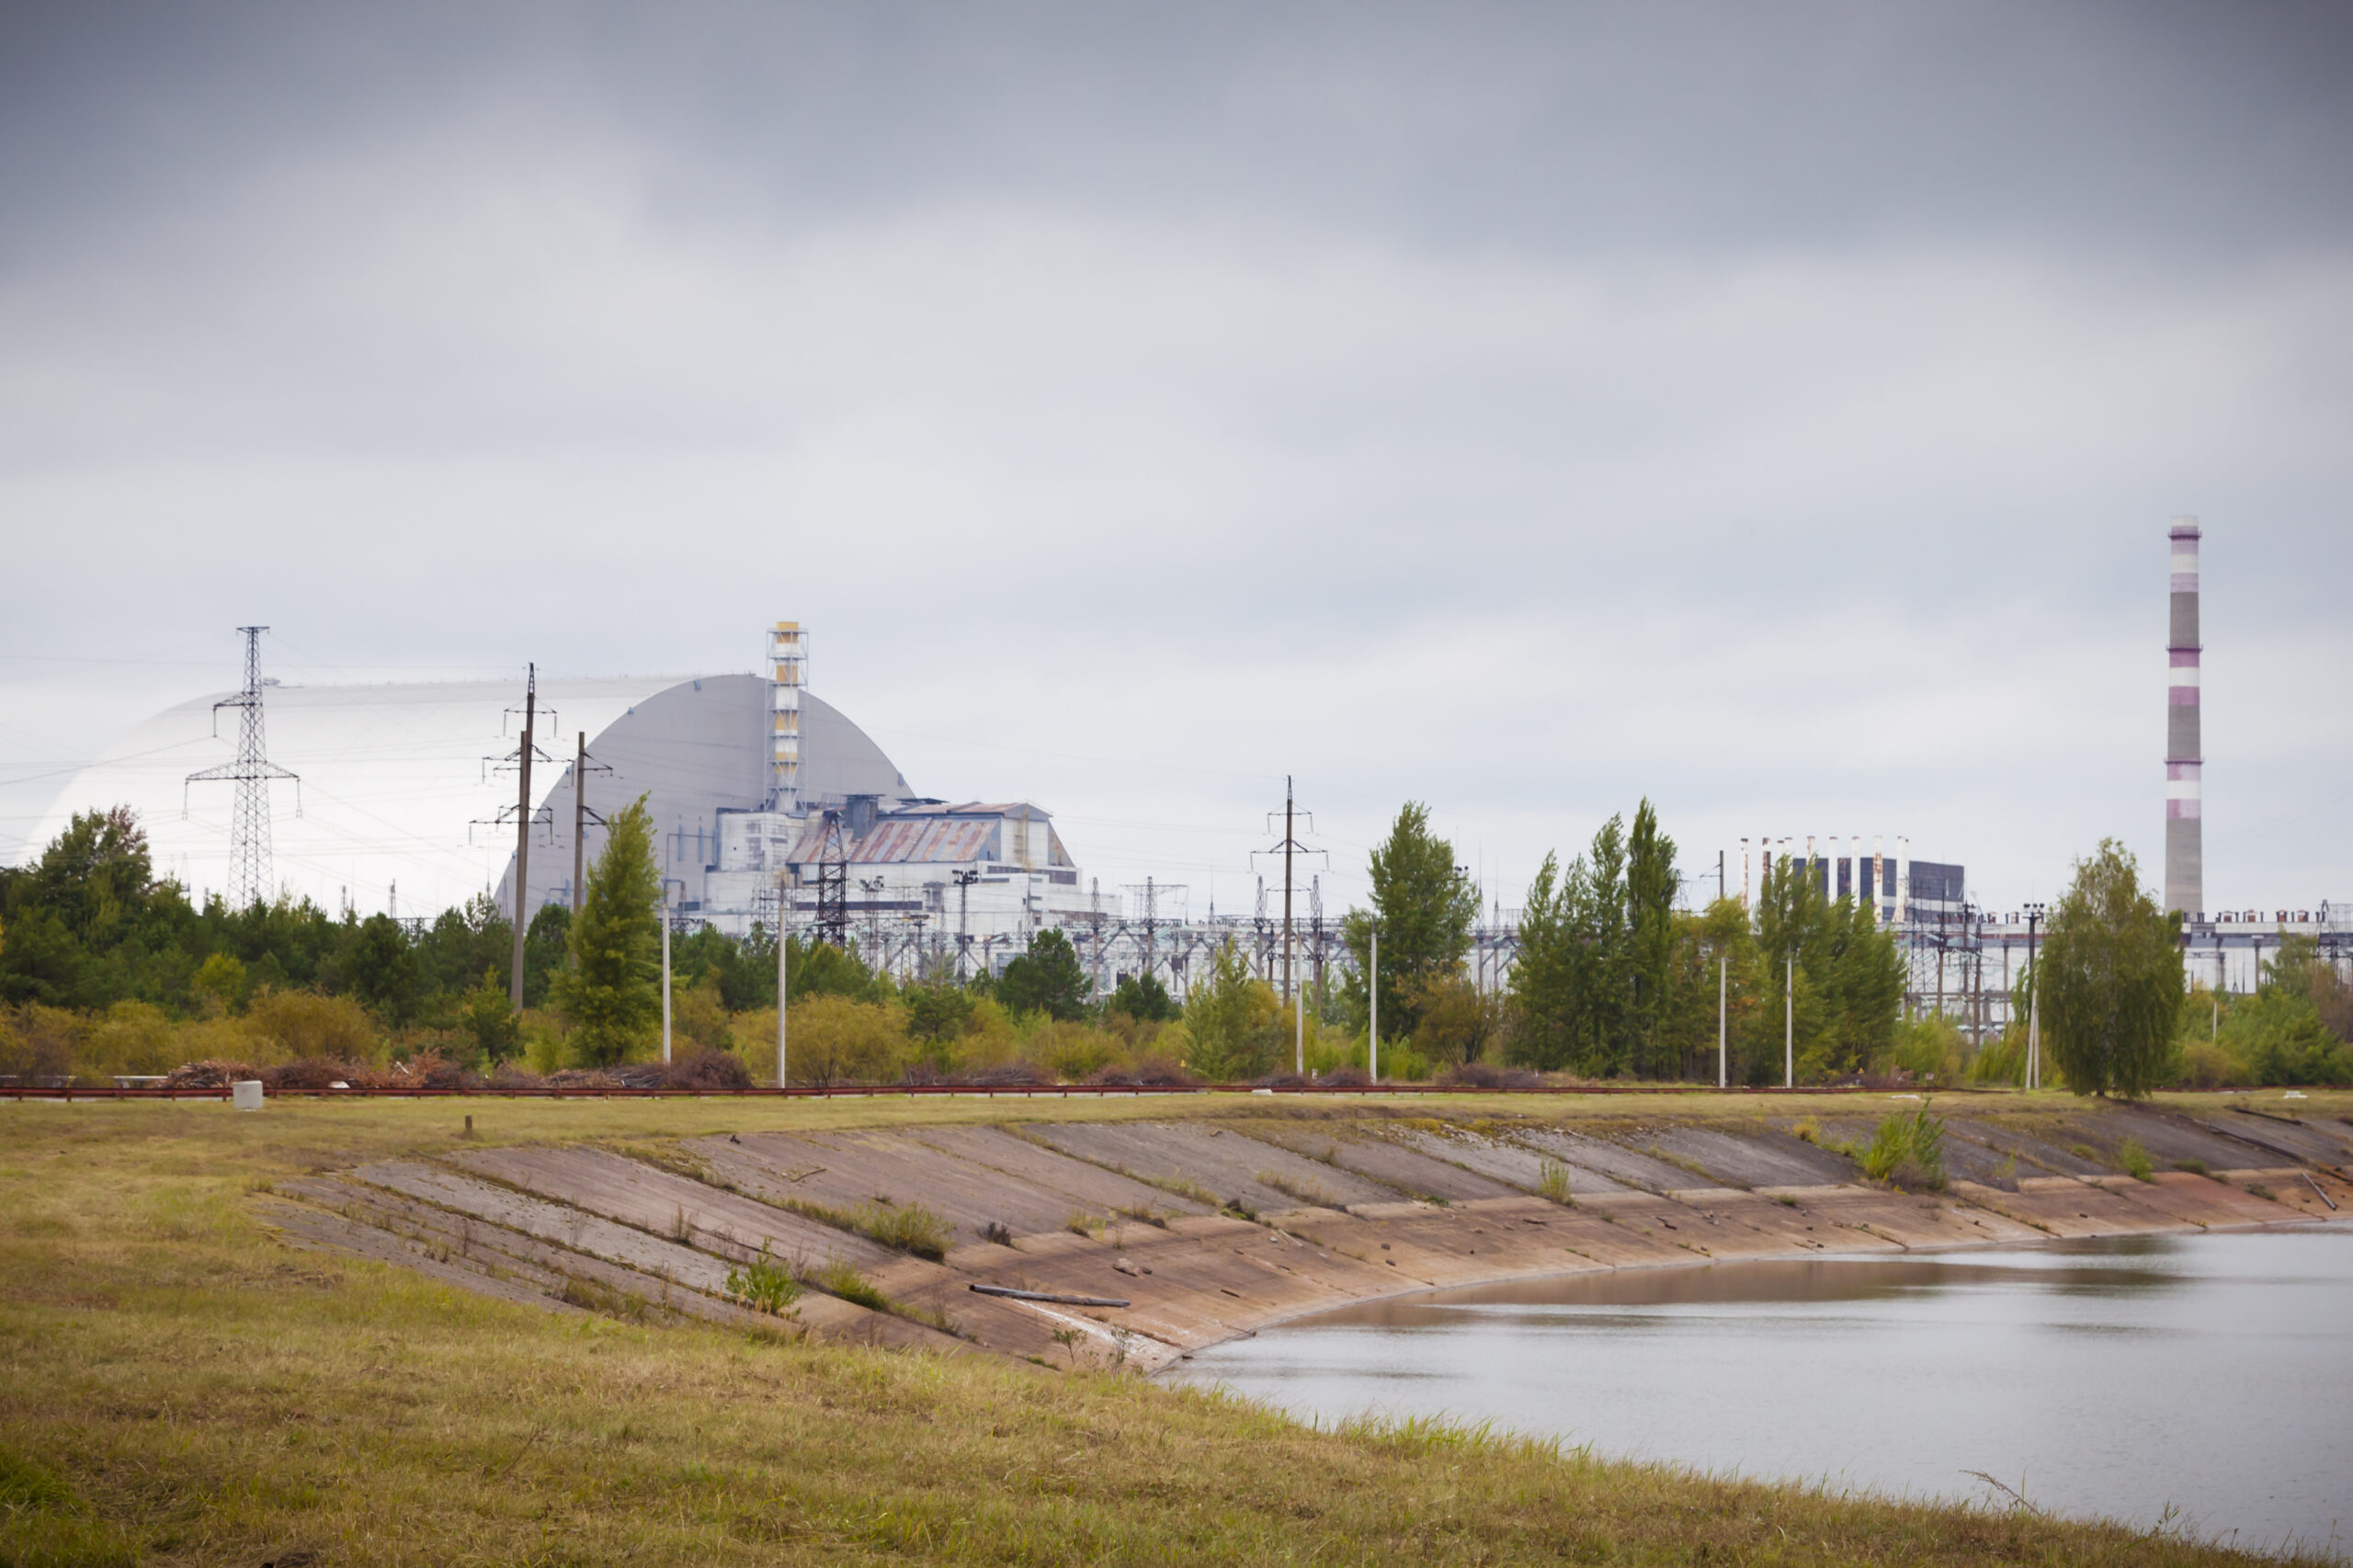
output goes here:
{"type": "MultiPolygon", "coordinates": [[[[2315,937],[2334,961],[2353,956],[2353,906],[2205,911],[2200,537],[2198,518],[2172,520],[2165,906],[2181,916],[2193,977],[2252,989],[2266,946],[2289,935],[2315,937]]],[[[1141,972],[1179,996],[1195,961],[1226,942],[1266,977],[1285,951],[1280,885],[1261,878],[1254,904],[1195,913],[1181,883],[1099,888],[1033,800],[918,793],[812,690],[798,622],[765,631],[755,673],[534,676],[520,690],[278,685],[259,664],[266,629],[242,631],[245,687],[125,735],[59,793],[35,843],[75,812],[129,805],[158,873],[198,899],[292,895],[416,923],[487,897],[529,921],[576,906],[605,822],[642,800],[680,928],[781,925],[854,944],[896,975],[998,970],[1040,930],[1061,928],[1096,986],[1141,972]],[[224,711],[233,737],[221,735],[224,711]]],[[[1979,1034],[2000,1026],[2038,939],[2033,906],[1986,909],[1962,864],[1915,859],[1908,836],[1864,833],[1744,838],[1741,906],[1767,871],[1793,862],[1821,897],[1866,904],[1894,930],[1913,1010],[1962,1017],[1979,1034]]],[[[1299,895],[1292,944],[1320,984],[1329,963],[1346,963],[1339,918],[1325,913],[1320,878],[1299,895]]],[[[1494,902],[1471,939],[1480,989],[1499,991],[1518,911],[1494,902]]]]}

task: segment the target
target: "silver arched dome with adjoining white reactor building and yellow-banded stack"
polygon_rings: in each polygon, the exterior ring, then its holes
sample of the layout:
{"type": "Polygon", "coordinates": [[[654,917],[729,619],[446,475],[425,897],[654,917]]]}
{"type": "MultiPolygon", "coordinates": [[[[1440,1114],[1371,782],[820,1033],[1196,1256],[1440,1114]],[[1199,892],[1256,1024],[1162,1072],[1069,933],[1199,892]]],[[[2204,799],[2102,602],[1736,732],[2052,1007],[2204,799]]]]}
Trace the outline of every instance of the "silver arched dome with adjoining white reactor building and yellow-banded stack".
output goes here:
{"type": "Polygon", "coordinates": [[[478,895],[525,916],[569,904],[602,819],[647,803],[680,923],[744,932],[824,913],[901,946],[962,932],[984,956],[1096,923],[1118,899],[1080,883],[1047,810],[918,796],[840,709],[807,690],[807,633],[779,622],[760,673],[278,685],[247,638],[242,692],[146,720],[49,808],[129,805],[158,873],[193,897],[308,897],[424,918],[478,895]],[[522,732],[532,730],[529,786],[522,732]],[[242,732],[240,732],[242,725],[242,732]],[[518,826],[527,852],[518,899],[518,826]],[[259,871],[256,871],[259,866],[259,871]],[[833,878],[842,906],[819,909],[833,878]],[[920,916],[920,918],[915,918],[920,916]]]}

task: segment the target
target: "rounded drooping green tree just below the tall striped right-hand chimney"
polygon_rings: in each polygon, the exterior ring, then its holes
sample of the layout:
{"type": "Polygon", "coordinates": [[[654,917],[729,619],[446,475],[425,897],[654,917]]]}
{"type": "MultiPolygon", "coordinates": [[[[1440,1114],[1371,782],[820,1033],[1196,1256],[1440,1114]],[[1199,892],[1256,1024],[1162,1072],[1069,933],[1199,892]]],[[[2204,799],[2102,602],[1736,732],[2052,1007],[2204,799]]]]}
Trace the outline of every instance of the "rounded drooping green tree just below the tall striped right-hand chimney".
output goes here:
{"type": "Polygon", "coordinates": [[[2125,845],[2075,862],[2042,944],[2042,1038],[2078,1095],[2160,1083],[2184,994],[2177,930],[2125,845]]]}

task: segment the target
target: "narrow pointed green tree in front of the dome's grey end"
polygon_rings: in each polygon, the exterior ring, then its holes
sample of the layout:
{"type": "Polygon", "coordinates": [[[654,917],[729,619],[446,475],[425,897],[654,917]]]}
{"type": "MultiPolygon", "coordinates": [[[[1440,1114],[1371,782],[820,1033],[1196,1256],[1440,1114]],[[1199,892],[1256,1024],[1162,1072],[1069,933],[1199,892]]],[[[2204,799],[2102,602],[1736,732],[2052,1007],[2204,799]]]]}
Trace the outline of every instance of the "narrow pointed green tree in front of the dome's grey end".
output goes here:
{"type": "Polygon", "coordinates": [[[572,965],[555,975],[555,1005],[572,1022],[574,1055],[612,1067],[649,1045],[661,1022],[661,871],[645,796],[607,822],[569,935],[572,965]]]}

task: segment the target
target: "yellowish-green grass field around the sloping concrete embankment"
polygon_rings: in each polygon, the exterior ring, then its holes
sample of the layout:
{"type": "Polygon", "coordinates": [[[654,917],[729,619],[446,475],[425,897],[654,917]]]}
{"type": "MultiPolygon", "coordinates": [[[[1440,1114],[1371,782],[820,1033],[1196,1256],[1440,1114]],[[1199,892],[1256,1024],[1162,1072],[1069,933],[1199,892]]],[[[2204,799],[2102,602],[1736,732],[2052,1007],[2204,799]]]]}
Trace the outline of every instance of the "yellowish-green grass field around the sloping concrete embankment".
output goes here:
{"type": "Polygon", "coordinates": [[[0,1104],[0,1561],[2240,1561],[1504,1439],[1308,1431],[1106,1373],[508,1307],[292,1253],[252,1217],[271,1182],[452,1147],[466,1111],[482,1142],[631,1142],[1172,1109],[0,1104]]]}

